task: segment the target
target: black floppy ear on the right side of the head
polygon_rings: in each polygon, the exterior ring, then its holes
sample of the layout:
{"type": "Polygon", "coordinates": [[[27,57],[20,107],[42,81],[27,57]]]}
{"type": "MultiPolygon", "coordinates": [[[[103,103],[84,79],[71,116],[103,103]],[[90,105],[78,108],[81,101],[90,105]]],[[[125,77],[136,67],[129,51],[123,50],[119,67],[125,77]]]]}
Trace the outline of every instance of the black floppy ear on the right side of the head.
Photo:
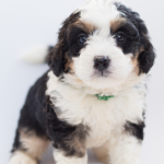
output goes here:
{"type": "Polygon", "coordinates": [[[116,3],[116,7],[118,11],[124,13],[122,16],[126,17],[128,21],[130,20],[139,31],[140,48],[143,49],[138,57],[140,70],[139,73],[148,73],[154,63],[155,52],[150,42],[147,26],[137,12],[133,12],[131,9],[126,8],[121,3],[116,3]]]}

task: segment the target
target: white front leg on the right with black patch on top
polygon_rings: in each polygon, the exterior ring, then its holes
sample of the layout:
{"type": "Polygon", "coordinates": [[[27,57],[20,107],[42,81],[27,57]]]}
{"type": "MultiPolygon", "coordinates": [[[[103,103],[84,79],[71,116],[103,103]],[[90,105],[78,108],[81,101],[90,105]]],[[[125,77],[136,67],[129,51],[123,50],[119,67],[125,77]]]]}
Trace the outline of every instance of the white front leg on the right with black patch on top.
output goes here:
{"type": "Polygon", "coordinates": [[[143,139],[143,127],[131,124],[110,140],[109,156],[113,164],[141,164],[139,159],[143,139]]]}

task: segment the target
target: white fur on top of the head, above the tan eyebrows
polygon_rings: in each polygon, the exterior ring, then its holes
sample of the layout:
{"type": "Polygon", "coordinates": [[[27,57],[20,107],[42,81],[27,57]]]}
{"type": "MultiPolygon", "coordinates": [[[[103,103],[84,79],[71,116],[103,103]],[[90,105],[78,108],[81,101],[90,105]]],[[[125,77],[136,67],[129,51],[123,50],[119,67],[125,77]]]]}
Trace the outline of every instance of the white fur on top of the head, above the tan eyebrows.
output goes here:
{"type": "Polygon", "coordinates": [[[119,17],[119,11],[115,5],[116,0],[90,0],[79,9],[81,21],[89,22],[97,28],[108,28],[110,21],[119,17]]]}

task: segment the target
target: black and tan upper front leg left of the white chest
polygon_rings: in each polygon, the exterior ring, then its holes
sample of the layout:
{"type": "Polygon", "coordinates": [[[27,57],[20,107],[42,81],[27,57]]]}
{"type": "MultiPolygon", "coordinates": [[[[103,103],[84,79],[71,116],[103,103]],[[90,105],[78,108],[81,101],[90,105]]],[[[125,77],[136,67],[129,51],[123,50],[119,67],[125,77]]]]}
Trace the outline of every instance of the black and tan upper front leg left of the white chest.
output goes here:
{"type": "Polygon", "coordinates": [[[58,119],[55,108],[47,97],[47,132],[54,141],[54,147],[65,152],[66,156],[82,157],[85,155],[85,139],[89,133],[89,128],[83,125],[71,126],[58,119]]]}

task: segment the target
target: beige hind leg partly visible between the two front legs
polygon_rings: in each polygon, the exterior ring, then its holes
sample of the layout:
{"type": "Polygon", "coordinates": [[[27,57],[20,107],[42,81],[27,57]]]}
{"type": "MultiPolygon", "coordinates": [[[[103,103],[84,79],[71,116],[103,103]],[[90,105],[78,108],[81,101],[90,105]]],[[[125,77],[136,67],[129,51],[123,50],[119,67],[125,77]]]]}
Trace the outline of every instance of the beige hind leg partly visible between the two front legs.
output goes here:
{"type": "Polygon", "coordinates": [[[102,147],[92,149],[94,154],[97,156],[97,159],[102,162],[107,164],[109,161],[109,150],[108,150],[108,143],[105,142],[102,147]]]}

